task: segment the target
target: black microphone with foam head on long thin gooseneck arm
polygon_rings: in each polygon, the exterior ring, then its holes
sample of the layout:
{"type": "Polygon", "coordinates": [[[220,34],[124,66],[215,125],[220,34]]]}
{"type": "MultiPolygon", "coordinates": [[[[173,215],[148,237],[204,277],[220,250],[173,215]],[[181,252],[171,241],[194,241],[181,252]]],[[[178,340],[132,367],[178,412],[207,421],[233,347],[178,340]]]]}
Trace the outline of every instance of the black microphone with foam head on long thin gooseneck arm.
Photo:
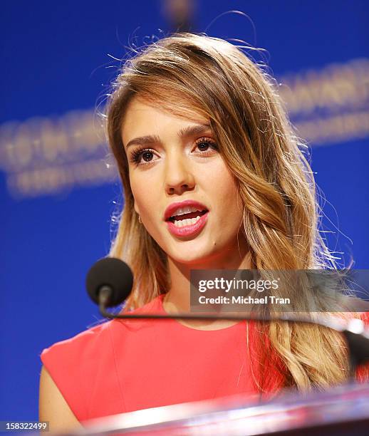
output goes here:
{"type": "Polygon", "coordinates": [[[106,311],[107,307],[118,306],[123,303],[132,291],[133,274],[130,267],[120,259],[106,257],[97,261],[88,271],[86,287],[90,298],[99,306],[100,313],[105,318],[127,319],[192,319],[192,320],[232,320],[232,321],[291,321],[298,323],[316,324],[343,333],[348,344],[350,356],[350,369],[352,376],[355,375],[355,368],[358,365],[369,362],[369,331],[365,323],[353,318],[345,321],[336,316],[320,315],[314,320],[308,316],[301,316],[289,313],[279,316],[257,315],[250,313],[246,315],[214,315],[203,313],[119,313],[114,314],[106,311]]]}

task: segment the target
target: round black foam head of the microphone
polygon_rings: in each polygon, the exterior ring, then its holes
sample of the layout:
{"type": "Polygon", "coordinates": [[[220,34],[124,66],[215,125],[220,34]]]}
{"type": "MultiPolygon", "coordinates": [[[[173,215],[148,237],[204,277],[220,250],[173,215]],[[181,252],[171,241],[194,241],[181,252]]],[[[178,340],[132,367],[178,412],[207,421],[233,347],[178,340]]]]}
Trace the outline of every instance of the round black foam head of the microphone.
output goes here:
{"type": "Polygon", "coordinates": [[[86,288],[90,299],[99,304],[99,292],[103,286],[112,290],[107,307],[123,303],[132,291],[133,274],[125,262],[115,257],[105,257],[91,266],[86,276],[86,288]]]}

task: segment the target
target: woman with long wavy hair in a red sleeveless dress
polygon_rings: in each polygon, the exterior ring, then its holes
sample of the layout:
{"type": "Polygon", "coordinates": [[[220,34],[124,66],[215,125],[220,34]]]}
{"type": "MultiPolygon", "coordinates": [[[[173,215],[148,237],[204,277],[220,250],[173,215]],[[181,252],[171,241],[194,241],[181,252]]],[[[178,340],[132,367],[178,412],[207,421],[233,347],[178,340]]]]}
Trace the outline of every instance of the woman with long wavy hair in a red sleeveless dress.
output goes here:
{"type": "MultiPolygon", "coordinates": [[[[318,232],[313,174],[274,82],[237,47],[191,33],[148,46],[115,81],[107,122],[125,197],[110,256],[135,276],[126,308],[188,311],[192,269],[336,268],[318,232]]],[[[338,333],[276,321],[115,320],[41,358],[40,419],[54,430],[348,379],[338,333]]]]}

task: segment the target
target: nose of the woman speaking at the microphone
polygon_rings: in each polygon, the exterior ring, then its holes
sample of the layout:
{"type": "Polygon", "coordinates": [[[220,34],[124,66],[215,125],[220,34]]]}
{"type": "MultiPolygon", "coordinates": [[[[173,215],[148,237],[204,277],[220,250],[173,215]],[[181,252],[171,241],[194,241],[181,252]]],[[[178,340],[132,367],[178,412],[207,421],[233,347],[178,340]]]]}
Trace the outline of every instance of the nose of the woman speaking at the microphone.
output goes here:
{"type": "Polygon", "coordinates": [[[182,155],[172,155],[165,162],[165,190],[170,193],[182,193],[194,187],[192,167],[182,155]]]}

